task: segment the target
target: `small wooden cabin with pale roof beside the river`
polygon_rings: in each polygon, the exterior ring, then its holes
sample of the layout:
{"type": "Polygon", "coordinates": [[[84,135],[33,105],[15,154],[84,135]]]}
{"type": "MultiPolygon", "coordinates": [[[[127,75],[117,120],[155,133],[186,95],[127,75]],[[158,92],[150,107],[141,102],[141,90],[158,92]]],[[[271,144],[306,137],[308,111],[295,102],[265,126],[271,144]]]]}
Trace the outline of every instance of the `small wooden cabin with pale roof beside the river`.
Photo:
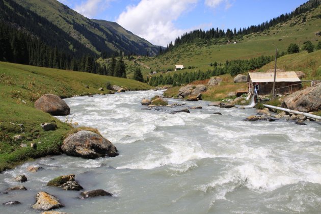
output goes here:
{"type": "MultiPolygon", "coordinates": [[[[253,94],[255,87],[258,95],[273,94],[274,72],[250,72],[247,82],[249,93],[253,94]]],[[[276,94],[291,94],[301,88],[301,81],[296,72],[276,72],[276,94]]]]}

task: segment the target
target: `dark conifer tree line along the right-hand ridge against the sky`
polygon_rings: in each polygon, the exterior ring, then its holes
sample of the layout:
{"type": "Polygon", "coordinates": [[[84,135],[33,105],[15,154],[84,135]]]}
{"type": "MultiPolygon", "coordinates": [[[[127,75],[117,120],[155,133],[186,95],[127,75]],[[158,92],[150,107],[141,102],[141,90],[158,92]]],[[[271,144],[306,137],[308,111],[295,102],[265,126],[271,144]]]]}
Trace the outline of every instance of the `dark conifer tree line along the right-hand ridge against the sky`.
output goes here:
{"type": "Polygon", "coordinates": [[[227,29],[225,32],[224,30],[219,28],[216,28],[216,29],[212,28],[208,31],[203,31],[200,29],[200,30],[191,31],[189,33],[184,33],[181,37],[178,37],[175,39],[174,44],[170,42],[167,45],[167,50],[162,51],[162,53],[167,52],[173,49],[174,47],[178,47],[181,44],[193,42],[195,41],[195,39],[202,39],[202,40],[208,40],[213,38],[233,39],[234,37],[241,37],[252,33],[262,32],[264,30],[270,29],[272,26],[275,26],[279,23],[286,22],[291,18],[293,18],[294,16],[298,16],[313,8],[317,8],[319,5],[321,5],[320,0],[310,0],[304,3],[303,5],[301,5],[300,7],[296,8],[296,10],[291,13],[285,13],[276,18],[271,19],[270,21],[265,21],[258,25],[251,25],[248,28],[243,28],[243,29],[240,28],[239,30],[236,30],[236,28],[234,28],[234,30],[227,29]]]}

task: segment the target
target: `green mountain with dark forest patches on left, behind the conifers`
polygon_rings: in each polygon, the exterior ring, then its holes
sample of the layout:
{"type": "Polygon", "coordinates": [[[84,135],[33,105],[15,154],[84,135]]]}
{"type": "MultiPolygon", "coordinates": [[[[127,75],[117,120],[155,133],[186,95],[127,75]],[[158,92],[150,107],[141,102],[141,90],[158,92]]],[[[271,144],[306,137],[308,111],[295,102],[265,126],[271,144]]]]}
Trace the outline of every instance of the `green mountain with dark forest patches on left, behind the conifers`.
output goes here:
{"type": "MultiPolygon", "coordinates": [[[[115,22],[88,19],[56,0],[0,0],[0,20],[72,52],[156,55],[152,45],[115,22]]],[[[76,54],[77,55],[77,54],[76,54]]]]}

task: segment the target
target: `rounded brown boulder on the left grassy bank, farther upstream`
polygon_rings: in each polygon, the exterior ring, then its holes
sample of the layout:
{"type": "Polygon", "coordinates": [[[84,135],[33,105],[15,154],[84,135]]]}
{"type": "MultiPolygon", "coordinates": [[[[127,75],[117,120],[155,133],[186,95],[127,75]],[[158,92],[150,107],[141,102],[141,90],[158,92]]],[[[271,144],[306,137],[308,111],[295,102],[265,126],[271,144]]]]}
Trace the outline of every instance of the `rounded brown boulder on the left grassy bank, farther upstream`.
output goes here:
{"type": "Polygon", "coordinates": [[[35,108],[55,116],[70,114],[70,108],[64,100],[55,94],[45,94],[35,102],[35,108]]]}

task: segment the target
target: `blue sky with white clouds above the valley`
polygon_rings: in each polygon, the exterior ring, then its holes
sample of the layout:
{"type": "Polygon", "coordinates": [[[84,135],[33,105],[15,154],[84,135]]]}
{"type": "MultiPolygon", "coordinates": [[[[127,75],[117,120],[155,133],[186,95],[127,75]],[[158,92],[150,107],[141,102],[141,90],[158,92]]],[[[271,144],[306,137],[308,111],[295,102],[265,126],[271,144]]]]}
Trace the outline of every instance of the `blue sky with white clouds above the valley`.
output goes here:
{"type": "Polygon", "coordinates": [[[115,21],[154,45],[196,29],[237,30],[290,13],[307,0],[59,0],[87,18],[115,21]]]}

